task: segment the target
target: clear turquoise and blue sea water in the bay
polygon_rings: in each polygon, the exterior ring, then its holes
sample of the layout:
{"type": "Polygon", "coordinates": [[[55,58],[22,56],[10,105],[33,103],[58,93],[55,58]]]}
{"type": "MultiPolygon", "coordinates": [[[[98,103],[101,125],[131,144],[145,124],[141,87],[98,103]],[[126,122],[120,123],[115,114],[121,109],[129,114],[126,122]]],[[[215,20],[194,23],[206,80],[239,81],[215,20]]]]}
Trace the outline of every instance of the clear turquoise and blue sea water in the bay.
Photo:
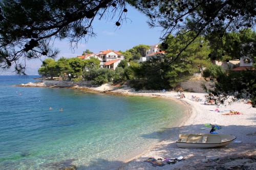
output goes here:
{"type": "Polygon", "coordinates": [[[164,99],[13,86],[34,77],[0,76],[0,169],[109,169],[184,114],[164,99]]]}

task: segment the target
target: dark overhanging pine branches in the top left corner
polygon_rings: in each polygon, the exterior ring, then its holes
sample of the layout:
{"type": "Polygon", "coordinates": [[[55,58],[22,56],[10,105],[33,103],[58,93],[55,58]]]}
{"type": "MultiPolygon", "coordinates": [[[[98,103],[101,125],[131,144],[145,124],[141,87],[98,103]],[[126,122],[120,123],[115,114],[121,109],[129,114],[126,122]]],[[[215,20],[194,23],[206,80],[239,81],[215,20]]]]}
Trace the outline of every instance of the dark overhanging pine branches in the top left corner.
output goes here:
{"type": "MultiPolygon", "coordinates": [[[[0,66],[16,65],[25,74],[22,59],[54,57],[55,39],[69,39],[75,47],[81,39],[94,36],[93,20],[116,15],[117,24],[125,18],[125,2],[101,1],[23,1],[0,3],[0,66]]],[[[114,18],[113,18],[114,19],[114,18]]]]}

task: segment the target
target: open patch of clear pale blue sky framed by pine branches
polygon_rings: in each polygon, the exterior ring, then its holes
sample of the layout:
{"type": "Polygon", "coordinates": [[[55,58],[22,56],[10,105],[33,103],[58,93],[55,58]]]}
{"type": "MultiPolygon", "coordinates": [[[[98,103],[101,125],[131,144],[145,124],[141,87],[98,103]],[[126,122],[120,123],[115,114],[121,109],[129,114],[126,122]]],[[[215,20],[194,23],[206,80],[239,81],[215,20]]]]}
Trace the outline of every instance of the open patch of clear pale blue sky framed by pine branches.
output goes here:
{"type": "MultiPolygon", "coordinates": [[[[106,49],[125,51],[139,44],[153,45],[159,43],[161,28],[150,28],[146,23],[148,18],[144,14],[131,6],[126,8],[128,19],[120,27],[115,26],[116,19],[95,19],[93,29],[96,36],[89,38],[87,42],[84,40],[79,42],[77,48],[71,49],[67,40],[55,40],[54,47],[60,51],[57,59],[60,57],[76,57],[86,49],[94,53],[106,49]]],[[[26,73],[37,75],[40,65],[41,61],[37,59],[27,61],[26,73]]],[[[0,75],[8,74],[13,74],[13,70],[0,71],[0,75]]]]}

